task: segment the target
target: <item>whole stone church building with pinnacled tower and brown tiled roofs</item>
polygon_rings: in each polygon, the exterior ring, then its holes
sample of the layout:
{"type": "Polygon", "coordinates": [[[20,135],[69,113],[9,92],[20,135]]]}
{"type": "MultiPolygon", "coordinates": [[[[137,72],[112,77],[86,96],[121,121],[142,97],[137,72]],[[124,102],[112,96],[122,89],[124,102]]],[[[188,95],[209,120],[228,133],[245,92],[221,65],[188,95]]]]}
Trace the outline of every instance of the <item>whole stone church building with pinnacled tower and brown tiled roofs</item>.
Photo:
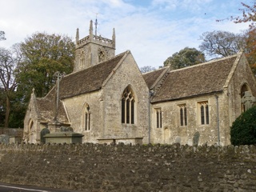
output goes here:
{"type": "MultiPolygon", "coordinates": [[[[82,142],[230,144],[230,126],[255,102],[254,74],[240,52],[179,70],[141,74],[130,50],[112,39],[76,34],[74,71],[44,97],[31,94],[24,140],[72,127],[82,142]]],[[[60,75],[59,75],[60,76],[60,75]]]]}

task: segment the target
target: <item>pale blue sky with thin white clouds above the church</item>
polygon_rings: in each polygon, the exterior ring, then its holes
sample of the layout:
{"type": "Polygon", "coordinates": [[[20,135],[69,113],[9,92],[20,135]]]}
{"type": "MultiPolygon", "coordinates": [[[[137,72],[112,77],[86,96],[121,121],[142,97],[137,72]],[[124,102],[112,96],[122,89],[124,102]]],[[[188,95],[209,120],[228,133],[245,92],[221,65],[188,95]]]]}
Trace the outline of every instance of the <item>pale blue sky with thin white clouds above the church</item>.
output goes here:
{"type": "Polygon", "coordinates": [[[241,1],[253,0],[0,0],[0,31],[6,37],[0,47],[9,49],[37,32],[74,39],[79,28],[84,38],[97,18],[97,34],[112,38],[115,29],[116,54],[130,50],[139,68],[158,69],[186,46],[199,50],[206,31],[248,29],[248,23],[216,22],[241,16],[241,1]]]}

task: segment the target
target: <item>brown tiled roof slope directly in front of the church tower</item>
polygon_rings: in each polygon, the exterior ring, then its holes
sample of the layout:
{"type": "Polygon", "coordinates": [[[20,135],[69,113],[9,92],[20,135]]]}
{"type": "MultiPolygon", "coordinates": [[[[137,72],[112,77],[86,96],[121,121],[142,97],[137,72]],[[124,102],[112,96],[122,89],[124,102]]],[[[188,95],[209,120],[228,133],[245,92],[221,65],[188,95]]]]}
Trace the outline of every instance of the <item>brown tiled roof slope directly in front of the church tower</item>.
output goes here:
{"type": "Polygon", "coordinates": [[[102,83],[109,77],[125,54],[126,52],[118,54],[106,62],[99,63],[86,70],[80,70],[62,78],[60,82],[60,98],[70,98],[79,94],[100,90],[102,83]]]}

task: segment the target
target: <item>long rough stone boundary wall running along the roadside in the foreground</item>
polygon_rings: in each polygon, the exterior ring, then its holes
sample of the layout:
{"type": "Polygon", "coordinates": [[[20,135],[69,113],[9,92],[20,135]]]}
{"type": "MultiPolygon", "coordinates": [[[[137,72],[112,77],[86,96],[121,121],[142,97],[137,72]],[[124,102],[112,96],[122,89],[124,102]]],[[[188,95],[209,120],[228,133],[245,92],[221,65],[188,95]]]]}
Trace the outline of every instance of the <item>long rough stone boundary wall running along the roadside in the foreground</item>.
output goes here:
{"type": "Polygon", "coordinates": [[[0,145],[0,181],[82,191],[254,191],[256,146],[0,145]]]}

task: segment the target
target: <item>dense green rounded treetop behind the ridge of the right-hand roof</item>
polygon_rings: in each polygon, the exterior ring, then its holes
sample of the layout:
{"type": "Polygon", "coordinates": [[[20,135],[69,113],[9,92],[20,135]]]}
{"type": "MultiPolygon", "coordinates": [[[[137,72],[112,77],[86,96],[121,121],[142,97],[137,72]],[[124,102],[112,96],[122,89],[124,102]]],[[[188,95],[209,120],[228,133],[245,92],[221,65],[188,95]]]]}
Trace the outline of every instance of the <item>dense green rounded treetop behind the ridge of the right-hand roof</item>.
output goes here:
{"type": "Polygon", "coordinates": [[[198,63],[206,62],[205,55],[195,48],[185,47],[183,50],[176,52],[163,62],[164,66],[171,66],[174,70],[186,66],[193,66],[198,63]]]}

